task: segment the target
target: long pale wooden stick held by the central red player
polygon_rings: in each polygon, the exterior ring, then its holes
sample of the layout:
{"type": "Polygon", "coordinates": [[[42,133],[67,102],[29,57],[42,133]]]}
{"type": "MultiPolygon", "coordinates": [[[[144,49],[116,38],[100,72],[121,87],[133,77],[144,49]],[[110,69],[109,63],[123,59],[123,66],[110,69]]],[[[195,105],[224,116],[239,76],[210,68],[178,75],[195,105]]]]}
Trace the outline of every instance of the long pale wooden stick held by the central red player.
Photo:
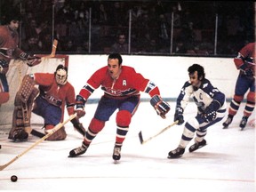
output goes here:
{"type": "Polygon", "coordinates": [[[14,161],[16,161],[18,158],[20,158],[20,156],[23,156],[24,154],[26,154],[30,149],[35,148],[36,145],[38,145],[40,142],[42,142],[43,140],[46,140],[48,137],[50,137],[54,132],[57,132],[58,130],[60,130],[61,127],[63,127],[64,124],[67,124],[69,121],[71,121],[73,118],[76,117],[76,114],[69,116],[69,118],[64,121],[63,123],[57,124],[56,126],[53,127],[53,129],[51,130],[51,132],[47,133],[43,138],[41,138],[40,140],[37,140],[36,143],[34,143],[32,146],[30,146],[29,148],[27,148],[26,150],[24,150],[22,153],[20,153],[20,155],[15,156],[10,162],[8,162],[7,164],[1,165],[0,166],[0,171],[4,170],[4,168],[6,168],[7,166],[9,166],[10,164],[12,164],[14,161]]]}

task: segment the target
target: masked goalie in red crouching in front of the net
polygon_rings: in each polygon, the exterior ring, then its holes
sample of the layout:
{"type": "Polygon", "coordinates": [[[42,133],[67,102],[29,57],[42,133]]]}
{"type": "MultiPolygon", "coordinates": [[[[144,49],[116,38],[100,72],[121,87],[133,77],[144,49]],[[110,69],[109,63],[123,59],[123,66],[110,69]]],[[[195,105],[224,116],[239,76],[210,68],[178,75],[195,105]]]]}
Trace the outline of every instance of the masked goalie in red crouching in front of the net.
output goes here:
{"type": "MultiPolygon", "coordinates": [[[[76,113],[75,89],[68,83],[68,68],[59,65],[54,74],[35,73],[24,76],[20,89],[14,101],[12,116],[12,129],[9,132],[11,140],[27,140],[32,131],[30,127],[31,111],[44,118],[45,133],[63,122],[65,106],[68,116],[76,113]],[[38,88],[36,86],[38,86],[38,88]]],[[[76,131],[83,136],[85,129],[76,117],[71,120],[76,131]]],[[[67,134],[65,128],[54,132],[47,140],[65,140],[67,134]]]]}

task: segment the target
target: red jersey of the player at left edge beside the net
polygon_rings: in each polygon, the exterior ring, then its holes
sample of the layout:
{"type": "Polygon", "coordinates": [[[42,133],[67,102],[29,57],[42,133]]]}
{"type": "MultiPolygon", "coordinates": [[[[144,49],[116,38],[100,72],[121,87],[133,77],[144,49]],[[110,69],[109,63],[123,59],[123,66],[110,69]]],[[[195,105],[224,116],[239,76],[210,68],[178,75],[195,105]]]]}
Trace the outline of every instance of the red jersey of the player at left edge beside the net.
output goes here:
{"type": "Polygon", "coordinates": [[[8,26],[0,26],[0,59],[11,60],[20,56],[19,34],[8,26]]]}

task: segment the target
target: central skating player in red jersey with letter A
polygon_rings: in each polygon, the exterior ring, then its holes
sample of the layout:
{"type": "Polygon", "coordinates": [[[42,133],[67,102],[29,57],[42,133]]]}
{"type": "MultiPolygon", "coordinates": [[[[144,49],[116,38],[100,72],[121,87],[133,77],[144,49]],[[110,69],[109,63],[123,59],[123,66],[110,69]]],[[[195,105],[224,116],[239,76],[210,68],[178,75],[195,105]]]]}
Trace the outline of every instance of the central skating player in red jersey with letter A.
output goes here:
{"type": "Polygon", "coordinates": [[[84,104],[94,90],[101,85],[104,92],[84,135],[82,146],[71,150],[68,157],[84,154],[109,117],[118,109],[116,113],[116,143],[112,157],[114,160],[119,160],[132,116],[140,103],[140,92],[150,95],[150,103],[159,116],[165,118],[165,114],[170,110],[169,104],[162,100],[156,84],[137,73],[134,68],[123,66],[122,62],[119,53],[108,55],[108,66],[97,70],[76,95],[77,116],[84,116],[84,104]]]}

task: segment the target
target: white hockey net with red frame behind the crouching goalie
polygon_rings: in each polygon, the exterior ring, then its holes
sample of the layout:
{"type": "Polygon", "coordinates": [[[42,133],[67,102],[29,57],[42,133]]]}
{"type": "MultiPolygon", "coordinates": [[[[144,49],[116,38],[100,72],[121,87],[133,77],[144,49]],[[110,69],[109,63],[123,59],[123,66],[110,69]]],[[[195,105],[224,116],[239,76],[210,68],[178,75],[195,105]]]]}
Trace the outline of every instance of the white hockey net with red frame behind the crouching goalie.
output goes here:
{"type": "MultiPolygon", "coordinates": [[[[43,55],[41,55],[43,56],[43,55]]],[[[68,68],[68,55],[55,55],[52,58],[42,60],[39,65],[28,67],[22,60],[12,60],[6,74],[9,84],[10,100],[0,107],[0,131],[9,132],[12,128],[12,113],[14,110],[14,98],[20,88],[23,76],[33,73],[54,73],[58,65],[65,65],[68,68]]],[[[40,116],[31,114],[31,126],[43,126],[44,120],[40,116]]]]}

